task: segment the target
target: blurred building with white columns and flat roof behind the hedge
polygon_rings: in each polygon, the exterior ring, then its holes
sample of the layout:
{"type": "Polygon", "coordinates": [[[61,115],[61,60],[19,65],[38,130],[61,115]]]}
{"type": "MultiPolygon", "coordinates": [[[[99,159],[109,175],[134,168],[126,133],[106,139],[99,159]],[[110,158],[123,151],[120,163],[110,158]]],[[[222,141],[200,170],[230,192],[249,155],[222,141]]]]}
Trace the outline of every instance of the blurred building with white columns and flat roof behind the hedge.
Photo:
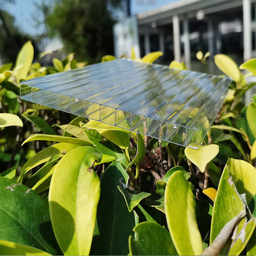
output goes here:
{"type": "MultiPolygon", "coordinates": [[[[160,62],[184,61],[196,71],[196,52],[223,53],[237,64],[256,57],[256,0],[180,0],[137,15],[140,56],[160,50],[160,62]]],[[[217,73],[213,60],[211,73],[217,73]],[[215,69],[215,70],[214,70],[215,69]]],[[[197,61],[198,63],[198,61],[197,61]]]]}

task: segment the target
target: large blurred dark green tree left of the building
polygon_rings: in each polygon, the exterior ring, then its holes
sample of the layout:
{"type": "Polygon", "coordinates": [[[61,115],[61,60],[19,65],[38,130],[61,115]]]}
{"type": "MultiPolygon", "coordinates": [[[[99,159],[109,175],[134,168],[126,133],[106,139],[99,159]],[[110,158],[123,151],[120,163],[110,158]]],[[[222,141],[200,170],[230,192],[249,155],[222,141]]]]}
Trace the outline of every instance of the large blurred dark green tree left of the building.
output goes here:
{"type": "Polygon", "coordinates": [[[66,52],[74,52],[79,61],[99,62],[113,54],[113,25],[122,14],[123,0],[55,0],[46,19],[50,36],[58,34],[66,52]]]}

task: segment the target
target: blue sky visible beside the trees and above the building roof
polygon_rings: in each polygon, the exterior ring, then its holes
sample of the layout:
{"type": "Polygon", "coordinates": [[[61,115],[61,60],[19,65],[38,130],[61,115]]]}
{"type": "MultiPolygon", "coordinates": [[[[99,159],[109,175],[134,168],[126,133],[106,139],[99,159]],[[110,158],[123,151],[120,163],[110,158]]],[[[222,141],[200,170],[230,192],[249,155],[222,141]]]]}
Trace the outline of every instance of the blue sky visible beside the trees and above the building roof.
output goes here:
{"type": "MultiPolygon", "coordinates": [[[[44,0],[15,0],[15,4],[6,3],[4,9],[14,16],[15,24],[22,32],[34,36],[42,34],[44,30],[43,27],[36,27],[32,18],[33,15],[37,15],[39,19],[42,18],[42,14],[40,16],[34,6],[34,2],[42,1],[44,0]]],[[[176,1],[178,0],[131,0],[131,12],[135,15],[176,1]]]]}

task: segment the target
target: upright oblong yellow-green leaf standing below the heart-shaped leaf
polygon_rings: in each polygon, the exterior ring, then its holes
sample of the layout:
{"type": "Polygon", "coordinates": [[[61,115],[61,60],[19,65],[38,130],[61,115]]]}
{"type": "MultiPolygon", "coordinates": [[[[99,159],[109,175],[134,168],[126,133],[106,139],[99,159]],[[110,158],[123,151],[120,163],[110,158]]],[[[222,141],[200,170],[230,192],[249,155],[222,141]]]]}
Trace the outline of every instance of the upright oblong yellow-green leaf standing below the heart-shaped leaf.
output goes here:
{"type": "Polygon", "coordinates": [[[164,194],[166,220],[179,255],[199,255],[203,243],[196,222],[196,202],[181,171],[169,178],[164,194]]]}

